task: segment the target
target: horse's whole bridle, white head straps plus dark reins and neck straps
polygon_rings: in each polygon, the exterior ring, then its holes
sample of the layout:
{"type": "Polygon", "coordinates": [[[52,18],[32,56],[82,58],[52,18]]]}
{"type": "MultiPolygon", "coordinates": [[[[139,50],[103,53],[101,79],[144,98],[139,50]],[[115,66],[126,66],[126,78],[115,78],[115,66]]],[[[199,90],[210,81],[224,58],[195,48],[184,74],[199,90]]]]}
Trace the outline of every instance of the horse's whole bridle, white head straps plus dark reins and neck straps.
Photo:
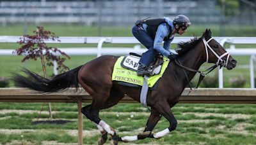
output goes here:
{"type": "MultiPolygon", "coordinates": [[[[229,57],[230,57],[230,53],[225,52],[225,53],[223,53],[222,55],[218,55],[216,52],[214,52],[214,50],[213,50],[213,49],[211,48],[211,46],[208,44],[212,39],[213,39],[213,38],[210,38],[208,41],[205,41],[205,38],[202,39],[203,42],[204,42],[204,46],[205,46],[206,62],[207,62],[207,63],[209,62],[209,52],[208,52],[208,48],[209,48],[209,50],[211,50],[211,52],[218,58],[218,61],[216,62],[216,64],[214,64],[213,66],[209,67],[209,68],[206,69],[205,71],[198,71],[198,70],[195,70],[195,69],[191,69],[191,68],[189,68],[189,67],[186,67],[186,66],[182,66],[180,60],[179,60],[179,59],[175,59],[175,63],[176,63],[178,66],[182,67],[182,69],[183,69],[183,71],[184,71],[184,74],[185,74],[186,78],[188,79],[189,87],[190,87],[190,92],[191,92],[191,90],[192,90],[192,83],[191,83],[191,81],[189,81],[189,78],[188,78],[188,75],[187,75],[185,69],[186,69],[187,71],[198,72],[198,73],[200,74],[198,83],[197,83],[197,85],[196,85],[196,88],[198,88],[198,86],[200,85],[200,83],[202,82],[202,80],[204,79],[204,77],[205,77],[206,74],[209,74],[209,72],[211,72],[212,70],[214,70],[214,69],[215,69],[216,67],[218,67],[218,66],[220,66],[220,68],[223,67],[223,66],[227,67],[228,59],[229,59],[229,57]],[[227,59],[226,59],[226,60],[223,60],[222,58],[225,57],[226,55],[228,55],[228,56],[227,56],[227,59]],[[178,62],[178,61],[179,61],[179,62],[178,62]]],[[[190,93],[190,92],[189,92],[189,93],[190,93]]],[[[188,93],[188,94],[189,94],[189,93],[188,93]]]]}

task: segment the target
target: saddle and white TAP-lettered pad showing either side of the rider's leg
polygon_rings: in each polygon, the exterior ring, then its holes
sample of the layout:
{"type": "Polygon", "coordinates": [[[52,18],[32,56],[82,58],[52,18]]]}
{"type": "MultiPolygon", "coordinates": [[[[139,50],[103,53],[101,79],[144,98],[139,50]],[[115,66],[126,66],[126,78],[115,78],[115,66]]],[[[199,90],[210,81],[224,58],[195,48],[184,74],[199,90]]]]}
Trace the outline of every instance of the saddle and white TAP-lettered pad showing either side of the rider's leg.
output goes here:
{"type": "MultiPolygon", "coordinates": [[[[141,55],[137,53],[129,53],[129,55],[125,56],[121,62],[121,66],[125,69],[129,69],[131,71],[137,71],[139,66],[141,55]]],[[[154,60],[150,63],[150,66],[147,68],[150,72],[150,75],[159,74],[161,71],[161,67],[163,64],[163,55],[157,55],[154,60]]]]}

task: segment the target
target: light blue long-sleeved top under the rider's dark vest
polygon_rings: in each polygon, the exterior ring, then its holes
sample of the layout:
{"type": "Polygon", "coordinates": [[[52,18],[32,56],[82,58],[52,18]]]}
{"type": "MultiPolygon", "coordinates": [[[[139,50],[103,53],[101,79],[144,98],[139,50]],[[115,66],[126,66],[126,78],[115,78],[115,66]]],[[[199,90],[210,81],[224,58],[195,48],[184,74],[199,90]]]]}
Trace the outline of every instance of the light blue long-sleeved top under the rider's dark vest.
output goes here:
{"type": "MultiPolygon", "coordinates": [[[[164,41],[164,45],[161,46],[161,43],[163,42],[163,39],[168,36],[170,30],[170,27],[172,28],[172,32],[174,31],[173,21],[170,20],[168,17],[164,17],[166,23],[160,24],[158,26],[158,29],[156,31],[156,37],[154,39],[154,49],[157,50],[157,52],[161,53],[162,55],[168,57],[170,55],[170,45],[173,41],[174,34],[170,36],[170,39],[168,41],[164,41]]],[[[143,29],[147,32],[147,24],[143,24],[143,29]]]]}

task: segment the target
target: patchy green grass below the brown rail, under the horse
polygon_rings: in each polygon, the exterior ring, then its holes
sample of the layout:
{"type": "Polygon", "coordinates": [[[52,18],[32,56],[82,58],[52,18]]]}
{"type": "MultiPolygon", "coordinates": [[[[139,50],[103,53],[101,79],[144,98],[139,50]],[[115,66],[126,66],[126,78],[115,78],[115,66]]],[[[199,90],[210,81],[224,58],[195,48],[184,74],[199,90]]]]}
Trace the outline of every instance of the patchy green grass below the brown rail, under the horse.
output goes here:
{"type": "MultiPolygon", "coordinates": [[[[86,105],[87,103],[83,104],[83,106],[86,105]]],[[[44,123],[33,125],[31,122],[38,117],[41,106],[41,103],[0,103],[0,144],[12,141],[32,142],[33,144],[42,144],[43,141],[64,142],[65,144],[76,143],[76,134],[71,135],[66,131],[77,130],[76,104],[54,104],[58,111],[58,115],[54,112],[54,118],[58,119],[60,117],[61,120],[72,120],[70,123],[64,125],[44,123]],[[3,114],[3,109],[13,110],[13,112],[3,114]],[[23,111],[37,111],[38,113],[20,114],[20,109],[23,111]],[[21,133],[5,134],[1,132],[2,129],[29,130],[21,133]],[[22,138],[20,135],[24,135],[24,137],[22,138]]],[[[172,109],[178,121],[177,130],[158,140],[144,139],[132,143],[255,144],[255,109],[255,104],[177,104],[172,109]],[[241,114],[247,117],[244,118],[241,114]]],[[[47,109],[44,108],[44,111],[47,111],[47,109]]],[[[120,136],[137,135],[143,131],[149,114],[149,111],[141,107],[140,104],[118,104],[100,111],[100,118],[115,128],[120,136]]],[[[48,117],[47,113],[42,114],[40,120],[48,117]]],[[[168,126],[168,121],[161,118],[154,132],[159,132],[168,126]]],[[[84,144],[96,144],[100,133],[95,132],[97,127],[94,123],[84,117],[83,129],[84,144]],[[85,133],[85,131],[90,130],[90,133],[85,133]]],[[[109,141],[107,143],[109,144],[109,141]]]]}

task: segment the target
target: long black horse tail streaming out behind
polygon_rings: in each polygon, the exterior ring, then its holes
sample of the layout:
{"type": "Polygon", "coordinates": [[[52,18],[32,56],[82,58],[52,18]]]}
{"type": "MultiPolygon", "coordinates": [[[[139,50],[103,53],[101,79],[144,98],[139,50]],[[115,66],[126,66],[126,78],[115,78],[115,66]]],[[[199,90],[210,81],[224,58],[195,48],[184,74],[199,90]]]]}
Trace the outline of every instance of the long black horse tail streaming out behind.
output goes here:
{"type": "Polygon", "coordinates": [[[58,92],[65,88],[75,87],[76,91],[79,88],[77,75],[82,66],[76,67],[70,71],[54,76],[52,79],[44,78],[35,72],[28,69],[23,69],[28,76],[24,77],[20,74],[13,73],[12,79],[15,86],[22,88],[30,88],[38,92],[58,92]]]}

